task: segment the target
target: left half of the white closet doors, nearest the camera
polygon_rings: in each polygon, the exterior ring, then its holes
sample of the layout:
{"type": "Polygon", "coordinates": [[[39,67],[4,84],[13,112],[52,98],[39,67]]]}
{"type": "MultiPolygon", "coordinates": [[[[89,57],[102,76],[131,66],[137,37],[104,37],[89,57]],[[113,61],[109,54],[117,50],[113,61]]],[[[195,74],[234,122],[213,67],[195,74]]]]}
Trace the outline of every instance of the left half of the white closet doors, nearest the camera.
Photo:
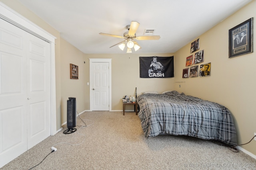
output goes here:
{"type": "Polygon", "coordinates": [[[0,19],[0,165],[27,150],[24,31],[0,19]]]}

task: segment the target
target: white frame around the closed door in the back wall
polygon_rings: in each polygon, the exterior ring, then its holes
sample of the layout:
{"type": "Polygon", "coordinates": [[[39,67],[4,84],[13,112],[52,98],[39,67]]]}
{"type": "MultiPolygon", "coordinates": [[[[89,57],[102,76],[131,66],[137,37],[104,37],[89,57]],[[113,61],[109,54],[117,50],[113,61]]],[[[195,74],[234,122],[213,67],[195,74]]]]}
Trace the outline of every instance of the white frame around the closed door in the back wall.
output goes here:
{"type": "MultiPolygon", "coordinates": [[[[112,77],[111,77],[111,61],[112,61],[112,59],[89,59],[90,60],[90,68],[91,68],[91,66],[92,66],[92,63],[108,63],[109,64],[109,69],[108,69],[108,74],[109,74],[109,76],[108,76],[108,82],[109,82],[109,88],[108,88],[108,90],[109,90],[109,98],[108,98],[108,100],[109,100],[109,111],[112,111],[112,84],[111,84],[111,80],[112,80],[112,77]]],[[[89,68],[89,69],[90,69],[89,68]]],[[[92,88],[92,72],[90,72],[90,86],[89,86],[89,88],[90,88],[90,111],[92,111],[92,94],[91,94],[91,88],[92,88]]]]}

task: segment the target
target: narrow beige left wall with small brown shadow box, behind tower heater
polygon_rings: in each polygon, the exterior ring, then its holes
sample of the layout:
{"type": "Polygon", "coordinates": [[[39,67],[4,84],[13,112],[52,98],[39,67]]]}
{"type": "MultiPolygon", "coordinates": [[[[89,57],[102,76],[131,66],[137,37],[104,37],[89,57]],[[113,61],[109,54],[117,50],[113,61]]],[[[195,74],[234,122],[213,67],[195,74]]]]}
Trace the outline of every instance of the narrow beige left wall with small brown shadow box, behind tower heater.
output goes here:
{"type": "Polygon", "coordinates": [[[81,113],[86,109],[85,104],[85,64],[84,53],[73,45],[60,38],[60,63],[61,63],[61,122],[67,121],[67,100],[76,98],[76,110],[81,113]],[[70,79],[70,63],[78,66],[78,79],[70,79]]]}

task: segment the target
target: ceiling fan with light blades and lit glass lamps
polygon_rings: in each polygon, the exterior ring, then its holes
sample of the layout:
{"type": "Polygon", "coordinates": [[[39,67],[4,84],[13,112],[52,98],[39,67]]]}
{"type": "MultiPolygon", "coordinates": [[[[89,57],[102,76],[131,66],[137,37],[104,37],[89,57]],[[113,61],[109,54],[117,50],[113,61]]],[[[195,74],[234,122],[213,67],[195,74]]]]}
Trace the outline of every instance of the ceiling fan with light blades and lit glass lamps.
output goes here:
{"type": "MultiPolygon", "coordinates": [[[[136,37],[136,31],[138,27],[140,26],[140,23],[137,21],[132,21],[130,25],[127,25],[128,32],[125,32],[123,36],[120,35],[112,35],[112,34],[106,34],[106,33],[99,33],[100,35],[107,35],[111,37],[117,37],[117,38],[123,38],[124,41],[117,43],[115,45],[118,45],[118,47],[123,51],[125,45],[127,45],[127,52],[126,53],[132,53],[132,47],[135,51],[140,49],[140,45],[134,40],[158,40],[160,39],[159,35],[151,35],[151,36],[138,36],[136,37]]],[[[112,45],[111,47],[114,47],[115,45],[112,45]]],[[[110,48],[111,48],[110,47],[110,48]]]]}

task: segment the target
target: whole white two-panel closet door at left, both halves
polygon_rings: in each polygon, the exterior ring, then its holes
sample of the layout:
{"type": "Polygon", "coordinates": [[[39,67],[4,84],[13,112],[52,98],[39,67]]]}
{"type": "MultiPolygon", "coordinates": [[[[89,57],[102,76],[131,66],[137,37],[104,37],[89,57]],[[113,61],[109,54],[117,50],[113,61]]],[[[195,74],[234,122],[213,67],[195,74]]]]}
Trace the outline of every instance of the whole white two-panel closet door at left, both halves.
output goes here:
{"type": "Polygon", "coordinates": [[[50,43],[0,19],[0,167],[50,136],[50,43]]]}

